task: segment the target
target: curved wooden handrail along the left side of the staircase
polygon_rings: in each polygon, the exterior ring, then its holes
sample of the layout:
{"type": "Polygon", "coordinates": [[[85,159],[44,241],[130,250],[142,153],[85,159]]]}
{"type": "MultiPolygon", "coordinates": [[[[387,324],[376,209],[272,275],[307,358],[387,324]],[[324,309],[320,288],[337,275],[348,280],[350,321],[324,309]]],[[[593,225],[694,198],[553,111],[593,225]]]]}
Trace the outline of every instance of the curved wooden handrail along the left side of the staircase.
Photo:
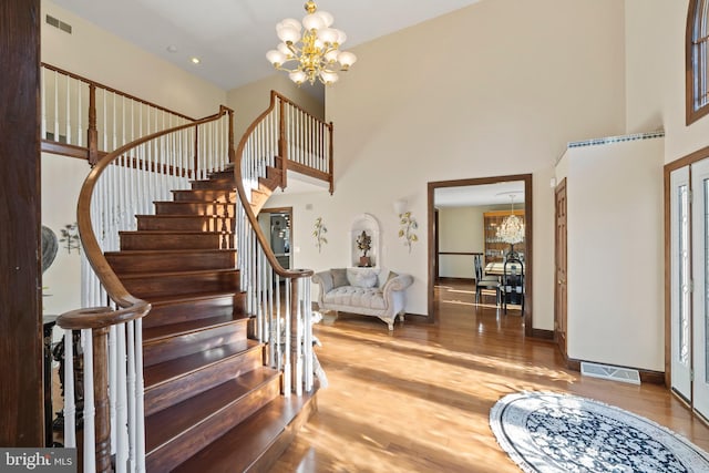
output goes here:
{"type": "MultiPolygon", "coordinates": [[[[96,183],[99,181],[99,177],[101,177],[101,174],[104,172],[106,167],[109,167],[111,163],[113,163],[119,156],[125,154],[129,150],[132,150],[136,146],[142,145],[145,142],[148,142],[151,140],[154,140],[156,137],[160,137],[169,133],[178,132],[181,130],[186,130],[189,127],[196,127],[204,123],[216,121],[219,117],[222,117],[224,114],[230,113],[230,112],[232,112],[230,109],[224,105],[220,105],[219,112],[214,115],[209,115],[205,119],[197,120],[193,123],[186,123],[179,126],[174,126],[168,130],[163,130],[161,132],[156,132],[147,136],[143,136],[142,138],[136,140],[132,143],[125,144],[119,147],[117,150],[106,154],[103,157],[103,160],[101,160],[91,169],[91,172],[89,173],[89,176],[86,176],[86,179],[84,181],[84,184],[81,187],[81,192],[79,194],[79,204],[76,206],[76,222],[79,224],[78,225],[79,235],[81,237],[81,243],[83,244],[85,255],[86,255],[86,258],[89,259],[89,263],[91,264],[91,267],[93,268],[94,273],[101,280],[101,284],[103,285],[104,289],[106,290],[111,299],[120,308],[130,309],[129,311],[140,312],[142,310],[141,307],[143,307],[143,305],[146,305],[147,302],[132,296],[127,291],[127,289],[125,289],[125,287],[123,286],[123,282],[121,282],[116,274],[113,271],[113,268],[111,268],[111,265],[106,260],[105,256],[103,255],[101,246],[99,245],[99,240],[96,239],[96,235],[93,228],[93,223],[91,222],[91,198],[93,195],[93,189],[96,186],[96,183]]],[[[121,312],[121,310],[114,312],[111,317],[115,317],[119,319],[122,318],[124,315],[119,312],[121,312]]],[[[69,313],[73,313],[73,312],[69,312],[69,313]]],[[[76,319],[76,317],[72,316],[70,319],[74,320],[76,319]]],[[[82,317],[79,317],[78,319],[89,320],[89,318],[82,318],[82,317]]],[[[90,327],[76,327],[76,328],[90,328],[90,327]]]]}

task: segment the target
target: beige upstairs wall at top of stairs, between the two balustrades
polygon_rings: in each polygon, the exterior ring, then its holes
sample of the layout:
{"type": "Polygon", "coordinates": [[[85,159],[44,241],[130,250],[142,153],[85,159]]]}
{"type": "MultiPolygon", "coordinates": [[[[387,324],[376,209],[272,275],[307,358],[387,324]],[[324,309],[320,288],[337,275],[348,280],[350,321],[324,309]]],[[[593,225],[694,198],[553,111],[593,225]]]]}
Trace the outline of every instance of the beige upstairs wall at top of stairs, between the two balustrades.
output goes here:
{"type": "Polygon", "coordinates": [[[311,115],[322,120],[325,117],[323,103],[307,92],[309,84],[298,86],[288,79],[288,74],[278,72],[261,81],[233,89],[227,94],[227,104],[235,110],[234,135],[236,143],[242,138],[246,128],[261,114],[270,102],[270,91],[274,90],[290,99],[311,115]]]}

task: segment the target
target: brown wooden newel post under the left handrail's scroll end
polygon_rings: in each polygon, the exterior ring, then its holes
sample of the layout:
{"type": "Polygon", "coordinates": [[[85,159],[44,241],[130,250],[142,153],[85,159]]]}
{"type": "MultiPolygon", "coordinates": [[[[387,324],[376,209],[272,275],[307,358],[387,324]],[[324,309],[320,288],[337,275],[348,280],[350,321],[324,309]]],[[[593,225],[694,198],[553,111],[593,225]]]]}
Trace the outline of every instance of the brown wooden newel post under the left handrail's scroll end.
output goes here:
{"type": "Polygon", "coordinates": [[[109,403],[109,328],[93,330],[93,397],[95,404],[96,471],[111,472],[111,412],[109,403]]]}

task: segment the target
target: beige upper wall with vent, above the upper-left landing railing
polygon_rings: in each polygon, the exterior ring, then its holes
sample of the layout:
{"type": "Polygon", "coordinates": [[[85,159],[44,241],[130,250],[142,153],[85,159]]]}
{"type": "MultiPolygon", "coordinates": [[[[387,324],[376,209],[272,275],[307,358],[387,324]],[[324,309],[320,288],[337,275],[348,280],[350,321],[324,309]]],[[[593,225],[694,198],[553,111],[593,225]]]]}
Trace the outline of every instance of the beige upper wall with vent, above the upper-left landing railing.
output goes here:
{"type": "Polygon", "coordinates": [[[42,0],[42,61],[193,117],[216,113],[226,91],[42,0]],[[50,27],[45,14],[72,25],[50,27]]]}

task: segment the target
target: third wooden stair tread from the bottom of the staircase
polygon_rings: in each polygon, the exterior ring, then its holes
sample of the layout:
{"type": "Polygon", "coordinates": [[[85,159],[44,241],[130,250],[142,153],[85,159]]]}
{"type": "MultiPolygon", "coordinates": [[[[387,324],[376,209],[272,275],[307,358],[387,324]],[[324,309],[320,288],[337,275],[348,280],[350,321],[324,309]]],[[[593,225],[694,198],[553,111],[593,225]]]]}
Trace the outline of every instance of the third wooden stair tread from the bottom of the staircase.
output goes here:
{"type": "Polygon", "coordinates": [[[199,351],[178,359],[145,367],[143,376],[145,390],[161,385],[167,381],[184,377],[208,366],[215,364],[232,357],[238,357],[246,351],[258,349],[260,343],[256,340],[240,340],[238,342],[223,345],[210,350],[199,351]]]}

